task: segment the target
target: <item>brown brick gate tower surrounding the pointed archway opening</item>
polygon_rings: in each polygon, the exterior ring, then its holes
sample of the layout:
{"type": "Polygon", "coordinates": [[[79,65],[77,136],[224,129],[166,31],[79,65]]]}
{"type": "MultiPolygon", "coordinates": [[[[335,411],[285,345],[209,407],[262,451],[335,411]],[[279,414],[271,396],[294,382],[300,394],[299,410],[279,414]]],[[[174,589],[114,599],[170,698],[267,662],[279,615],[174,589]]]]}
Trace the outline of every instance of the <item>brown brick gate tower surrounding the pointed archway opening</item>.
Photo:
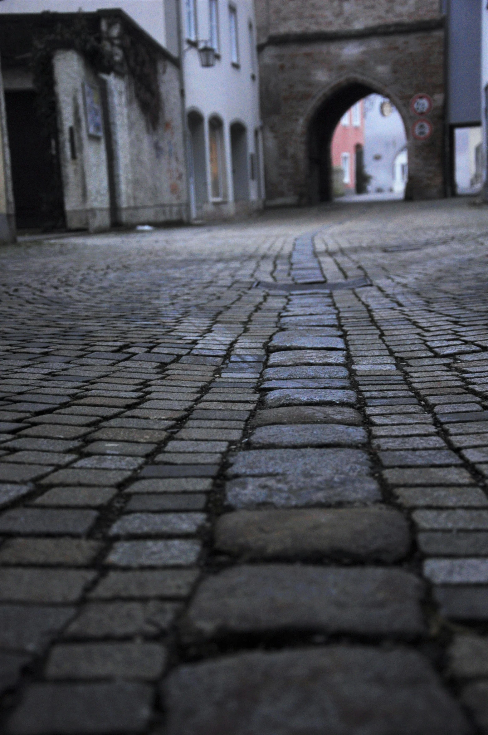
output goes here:
{"type": "Polygon", "coordinates": [[[445,30],[439,0],[256,0],[269,204],[332,196],[330,144],[351,105],[390,98],[406,129],[406,197],[444,196],[445,30]],[[431,99],[412,110],[419,94],[431,99]],[[416,135],[416,124],[422,121],[416,135]]]}

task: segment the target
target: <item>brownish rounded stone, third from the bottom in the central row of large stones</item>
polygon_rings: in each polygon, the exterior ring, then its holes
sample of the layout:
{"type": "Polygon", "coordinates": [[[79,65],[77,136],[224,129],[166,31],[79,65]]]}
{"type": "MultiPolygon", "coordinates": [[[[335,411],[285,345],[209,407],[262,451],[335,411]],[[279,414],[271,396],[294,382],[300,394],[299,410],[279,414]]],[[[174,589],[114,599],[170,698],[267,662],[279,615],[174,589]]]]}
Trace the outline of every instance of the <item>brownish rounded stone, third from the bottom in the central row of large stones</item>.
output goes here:
{"type": "Polygon", "coordinates": [[[326,557],[392,563],[409,550],[409,527],[384,506],[350,509],[259,510],[226,513],[215,547],[245,559],[326,557]]]}

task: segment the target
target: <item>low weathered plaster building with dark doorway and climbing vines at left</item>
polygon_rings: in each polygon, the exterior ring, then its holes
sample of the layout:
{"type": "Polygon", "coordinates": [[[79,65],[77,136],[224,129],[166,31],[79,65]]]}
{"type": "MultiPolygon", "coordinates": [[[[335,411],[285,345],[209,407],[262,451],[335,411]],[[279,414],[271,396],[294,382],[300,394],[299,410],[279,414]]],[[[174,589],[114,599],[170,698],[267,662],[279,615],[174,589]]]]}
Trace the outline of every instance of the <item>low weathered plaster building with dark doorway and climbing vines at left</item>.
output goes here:
{"type": "Polygon", "coordinates": [[[119,10],[4,14],[0,36],[18,226],[187,221],[176,57],[119,10]],[[69,35],[76,23],[92,46],[69,35]],[[35,54],[46,39],[56,121],[39,135],[49,110],[39,110],[35,54]]]}

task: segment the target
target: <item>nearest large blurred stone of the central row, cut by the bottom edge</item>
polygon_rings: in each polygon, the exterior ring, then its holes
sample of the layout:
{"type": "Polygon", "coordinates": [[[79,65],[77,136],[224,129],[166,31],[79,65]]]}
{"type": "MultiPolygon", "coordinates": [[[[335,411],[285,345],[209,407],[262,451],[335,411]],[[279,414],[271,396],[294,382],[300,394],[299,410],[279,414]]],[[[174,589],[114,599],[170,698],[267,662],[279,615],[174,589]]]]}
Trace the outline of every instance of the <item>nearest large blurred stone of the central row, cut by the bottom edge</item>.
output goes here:
{"type": "Polygon", "coordinates": [[[367,646],[238,653],[179,666],[168,735],[468,735],[416,651],[367,646]]]}

